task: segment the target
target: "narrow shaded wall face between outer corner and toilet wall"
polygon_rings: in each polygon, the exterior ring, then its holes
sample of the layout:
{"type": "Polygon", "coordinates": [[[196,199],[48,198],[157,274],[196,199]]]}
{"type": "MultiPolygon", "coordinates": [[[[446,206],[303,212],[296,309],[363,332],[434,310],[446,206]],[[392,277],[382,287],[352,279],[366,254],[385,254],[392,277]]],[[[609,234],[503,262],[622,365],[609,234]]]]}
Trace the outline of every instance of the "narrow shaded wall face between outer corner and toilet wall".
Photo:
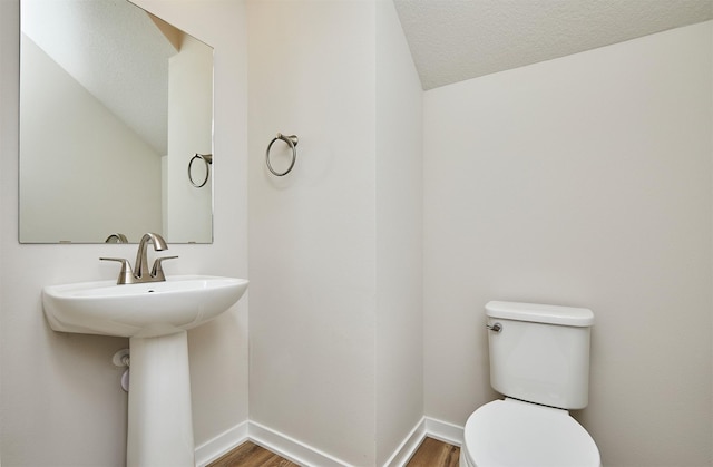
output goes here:
{"type": "Polygon", "coordinates": [[[423,415],[423,91],[391,1],[377,2],[377,465],[423,415]]]}

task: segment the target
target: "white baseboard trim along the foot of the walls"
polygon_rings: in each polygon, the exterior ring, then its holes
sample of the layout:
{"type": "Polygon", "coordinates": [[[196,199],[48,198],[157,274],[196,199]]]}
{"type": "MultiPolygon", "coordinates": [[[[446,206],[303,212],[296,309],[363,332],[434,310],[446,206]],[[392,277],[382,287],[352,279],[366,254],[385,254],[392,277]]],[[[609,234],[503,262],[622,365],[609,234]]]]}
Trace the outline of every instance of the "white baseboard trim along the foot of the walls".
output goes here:
{"type": "MultiPolygon", "coordinates": [[[[463,427],[447,421],[423,417],[401,445],[391,455],[384,467],[401,467],[409,461],[418,449],[423,438],[430,437],[451,445],[461,446],[463,441],[463,427]]],[[[346,467],[348,463],[323,453],[312,446],[307,446],[294,438],[247,420],[224,431],[209,441],[196,448],[196,466],[205,467],[207,464],[225,455],[231,449],[251,440],[271,451],[279,454],[287,460],[301,466],[320,467],[346,467]]]]}

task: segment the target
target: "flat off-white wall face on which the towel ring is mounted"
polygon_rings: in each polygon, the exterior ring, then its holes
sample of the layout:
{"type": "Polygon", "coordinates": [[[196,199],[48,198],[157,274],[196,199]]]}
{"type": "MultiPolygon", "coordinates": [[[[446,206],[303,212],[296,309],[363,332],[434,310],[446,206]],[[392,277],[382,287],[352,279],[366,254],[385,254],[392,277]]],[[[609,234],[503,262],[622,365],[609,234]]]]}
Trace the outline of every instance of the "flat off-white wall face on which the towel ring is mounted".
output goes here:
{"type": "Polygon", "coordinates": [[[251,419],[355,465],[374,463],[373,21],[247,2],[251,419]],[[300,137],[283,178],[277,132],[300,137]]]}

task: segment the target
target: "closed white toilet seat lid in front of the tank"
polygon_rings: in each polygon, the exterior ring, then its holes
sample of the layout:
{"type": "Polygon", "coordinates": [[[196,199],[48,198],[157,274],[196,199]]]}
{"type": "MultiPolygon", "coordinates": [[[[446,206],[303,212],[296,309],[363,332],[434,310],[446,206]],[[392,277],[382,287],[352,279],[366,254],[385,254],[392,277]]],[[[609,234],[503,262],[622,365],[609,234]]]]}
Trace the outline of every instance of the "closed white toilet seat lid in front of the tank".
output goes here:
{"type": "Polygon", "coordinates": [[[466,422],[461,451],[472,467],[602,465],[594,439],[569,412],[515,399],[476,410],[466,422]]]}

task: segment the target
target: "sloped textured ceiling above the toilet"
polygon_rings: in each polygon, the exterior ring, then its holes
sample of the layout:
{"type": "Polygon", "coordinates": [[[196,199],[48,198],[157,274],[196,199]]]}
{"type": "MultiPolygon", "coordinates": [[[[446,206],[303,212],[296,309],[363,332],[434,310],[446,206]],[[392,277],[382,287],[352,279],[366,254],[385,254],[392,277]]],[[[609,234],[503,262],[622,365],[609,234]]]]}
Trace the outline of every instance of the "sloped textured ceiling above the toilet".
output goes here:
{"type": "Polygon", "coordinates": [[[423,89],[713,18],[713,0],[394,0],[423,89]]]}

